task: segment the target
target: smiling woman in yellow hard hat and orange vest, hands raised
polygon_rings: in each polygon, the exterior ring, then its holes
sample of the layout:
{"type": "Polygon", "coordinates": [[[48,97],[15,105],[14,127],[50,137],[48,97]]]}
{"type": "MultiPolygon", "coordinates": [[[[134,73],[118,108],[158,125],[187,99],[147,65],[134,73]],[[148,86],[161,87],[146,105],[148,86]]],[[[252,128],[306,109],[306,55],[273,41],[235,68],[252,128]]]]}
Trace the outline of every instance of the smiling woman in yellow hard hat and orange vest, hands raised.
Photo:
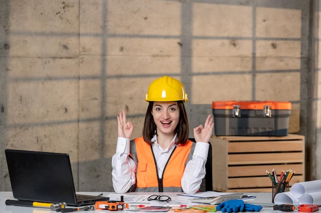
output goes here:
{"type": "Polygon", "coordinates": [[[130,141],[134,125],[119,113],[112,181],[116,193],[198,191],[212,135],[213,117],[193,129],[196,143],[188,139],[189,125],[184,85],[171,77],[154,80],[146,94],[149,102],[143,136],[130,141]]]}

